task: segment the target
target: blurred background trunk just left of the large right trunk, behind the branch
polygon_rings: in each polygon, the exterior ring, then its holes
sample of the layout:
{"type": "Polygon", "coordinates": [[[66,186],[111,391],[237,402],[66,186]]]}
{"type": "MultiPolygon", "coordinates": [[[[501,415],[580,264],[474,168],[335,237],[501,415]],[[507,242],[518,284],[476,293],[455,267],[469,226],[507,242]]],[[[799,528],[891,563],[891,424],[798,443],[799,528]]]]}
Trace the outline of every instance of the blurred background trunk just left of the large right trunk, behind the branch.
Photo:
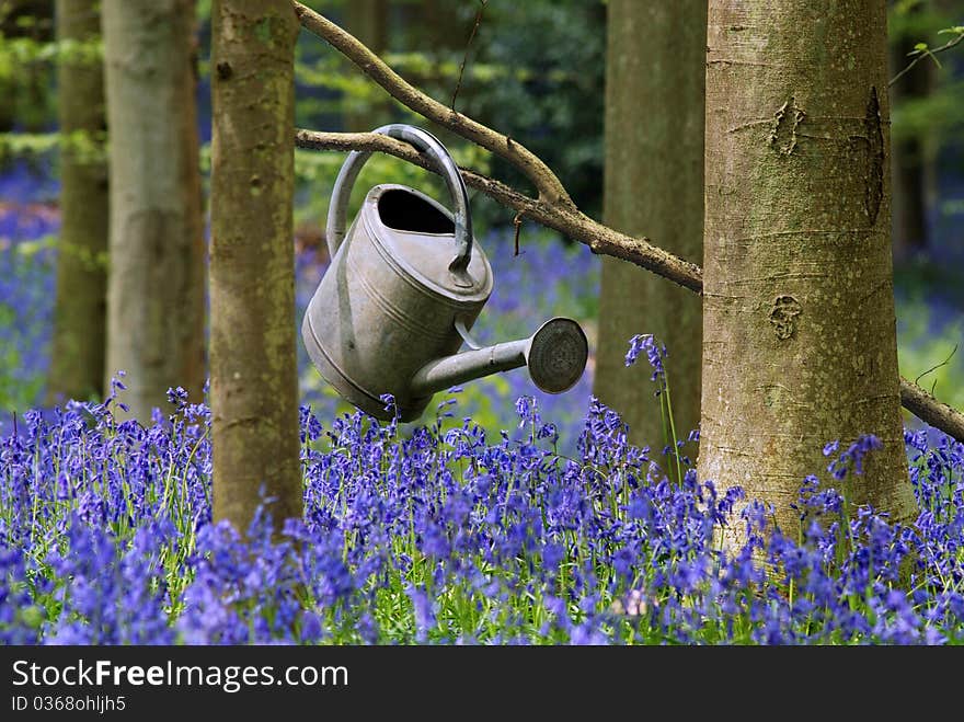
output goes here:
{"type": "MultiPolygon", "coordinates": [[[[606,224],[699,262],[705,3],[613,0],[608,13],[606,224]]],[[[620,413],[634,443],[659,449],[656,387],[649,374],[627,369],[623,360],[636,333],[654,333],[668,348],[675,427],[685,438],[700,420],[700,299],[605,257],[594,392],[620,413]]]]}

